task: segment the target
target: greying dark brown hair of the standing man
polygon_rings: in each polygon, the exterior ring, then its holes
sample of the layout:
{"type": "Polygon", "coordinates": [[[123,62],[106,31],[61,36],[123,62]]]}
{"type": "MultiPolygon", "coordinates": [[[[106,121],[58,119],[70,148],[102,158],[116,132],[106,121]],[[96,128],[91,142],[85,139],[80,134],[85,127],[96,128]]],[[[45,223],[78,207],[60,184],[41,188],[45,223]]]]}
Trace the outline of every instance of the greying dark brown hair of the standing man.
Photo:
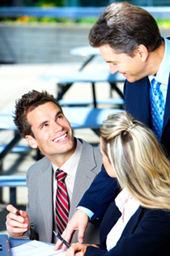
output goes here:
{"type": "Polygon", "coordinates": [[[115,53],[132,57],[138,45],[145,45],[152,52],[161,45],[162,38],[148,11],[127,2],[114,2],[91,28],[89,43],[93,47],[108,44],[115,53]]]}

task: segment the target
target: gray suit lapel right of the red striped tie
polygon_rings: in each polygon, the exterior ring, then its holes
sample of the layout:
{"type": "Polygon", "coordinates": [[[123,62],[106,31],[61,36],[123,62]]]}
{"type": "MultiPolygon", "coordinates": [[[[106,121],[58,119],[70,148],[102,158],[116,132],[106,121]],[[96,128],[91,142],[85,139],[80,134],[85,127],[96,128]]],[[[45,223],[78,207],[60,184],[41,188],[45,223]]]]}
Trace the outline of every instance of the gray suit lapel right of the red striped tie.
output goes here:
{"type": "Polygon", "coordinates": [[[80,199],[83,197],[84,192],[89,188],[91,182],[96,177],[96,173],[92,171],[96,167],[96,162],[94,158],[91,157],[91,155],[93,154],[94,152],[91,145],[83,141],[82,153],[80,156],[79,165],[75,176],[74,190],[70,203],[71,207],[69,220],[72,217],[72,215],[74,215],[74,211],[80,199]]]}

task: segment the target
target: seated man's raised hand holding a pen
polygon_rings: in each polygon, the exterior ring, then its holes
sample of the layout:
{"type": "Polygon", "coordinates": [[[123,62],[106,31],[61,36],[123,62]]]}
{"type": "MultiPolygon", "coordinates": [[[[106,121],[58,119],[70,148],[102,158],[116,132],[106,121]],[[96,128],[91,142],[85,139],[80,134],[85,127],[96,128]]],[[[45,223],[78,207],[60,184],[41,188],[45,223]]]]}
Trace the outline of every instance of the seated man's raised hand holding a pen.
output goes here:
{"type": "Polygon", "coordinates": [[[30,226],[29,217],[27,211],[19,211],[19,215],[16,215],[18,211],[11,204],[7,205],[7,211],[10,211],[6,215],[6,230],[12,237],[22,237],[30,226]]]}

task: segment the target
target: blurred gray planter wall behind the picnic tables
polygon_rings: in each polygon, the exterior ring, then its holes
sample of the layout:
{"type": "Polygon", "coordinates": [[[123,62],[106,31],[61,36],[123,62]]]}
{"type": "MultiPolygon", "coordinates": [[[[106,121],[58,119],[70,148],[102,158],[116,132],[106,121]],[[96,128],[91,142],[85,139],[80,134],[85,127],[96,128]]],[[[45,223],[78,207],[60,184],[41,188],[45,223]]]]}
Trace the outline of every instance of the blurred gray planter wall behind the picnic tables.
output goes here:
{"type": "Polygon", "coordinates": [[[81,62],[83,58],[70,55],[70,49],[88,45],[90,28],[0,23],[0,62],[81,62]]]}

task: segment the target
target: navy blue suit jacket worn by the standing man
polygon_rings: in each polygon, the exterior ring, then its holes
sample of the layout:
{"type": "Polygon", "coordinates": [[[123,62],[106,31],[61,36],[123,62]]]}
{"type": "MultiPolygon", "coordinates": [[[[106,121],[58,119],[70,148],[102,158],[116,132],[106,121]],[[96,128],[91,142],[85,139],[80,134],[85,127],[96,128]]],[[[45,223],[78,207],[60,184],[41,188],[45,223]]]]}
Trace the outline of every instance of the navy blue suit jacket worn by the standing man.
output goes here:
{"type": "MultiPolygon", "coordinates": [[[[134,119],[151,128],[150,82],[148,77],[134,83],[125,80],[124,96],[125,110],[129,112],[134,119]]],[[[161,143],[164,147],[164,151],[170,158],[170,78],[168,82],[161,143]]],[[[87,190],[79,203],[79,205],[87,207],[94,212],[94,218],[96,218],[96,220],[101,220],[108,204],[114,200],[118,193],[117,186],[114,188],[114,184],[116,184],[115,180],[116,179],[111,177],[108,178],[103,168],[102,172],[97,175],[96,180],[92,182],[91,187],[87,190]]],[[[94,221],[93,219],[91,221],[94,221]]]]}

